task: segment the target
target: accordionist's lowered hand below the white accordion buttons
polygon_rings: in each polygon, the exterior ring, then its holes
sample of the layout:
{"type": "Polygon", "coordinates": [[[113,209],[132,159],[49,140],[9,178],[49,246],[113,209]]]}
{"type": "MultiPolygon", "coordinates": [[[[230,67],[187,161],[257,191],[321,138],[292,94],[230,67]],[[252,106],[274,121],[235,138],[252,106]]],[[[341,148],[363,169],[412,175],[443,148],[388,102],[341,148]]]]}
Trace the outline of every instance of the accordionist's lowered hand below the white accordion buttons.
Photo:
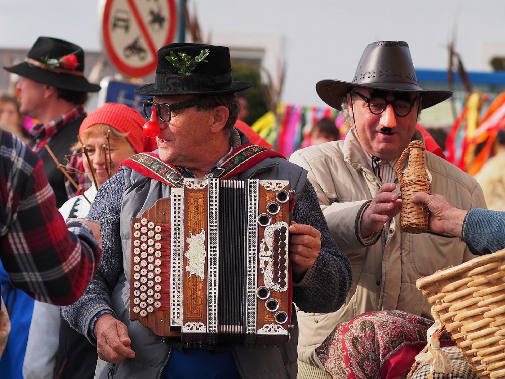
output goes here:
{"type": "Polygon", "coordinates": [[[125,358],[135,358],[135,352],[130,349],[128,328],[112,314],[105,313],[98,317],[94,326],[94,335],[98,358],[110,363],[119,363],[125,358]]]}

